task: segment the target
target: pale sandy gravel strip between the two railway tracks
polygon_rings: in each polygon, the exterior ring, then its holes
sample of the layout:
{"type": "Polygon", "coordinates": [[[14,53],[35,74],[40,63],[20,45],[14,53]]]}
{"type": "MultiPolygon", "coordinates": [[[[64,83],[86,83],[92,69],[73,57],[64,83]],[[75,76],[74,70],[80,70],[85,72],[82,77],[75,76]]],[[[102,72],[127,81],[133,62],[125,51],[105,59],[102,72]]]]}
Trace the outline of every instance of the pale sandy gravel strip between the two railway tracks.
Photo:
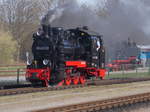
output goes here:
{"type": "Polygon", "coordinates": [[[150,81],[0,97],[1,112],[24,112],[150,92],[150,81]]]}

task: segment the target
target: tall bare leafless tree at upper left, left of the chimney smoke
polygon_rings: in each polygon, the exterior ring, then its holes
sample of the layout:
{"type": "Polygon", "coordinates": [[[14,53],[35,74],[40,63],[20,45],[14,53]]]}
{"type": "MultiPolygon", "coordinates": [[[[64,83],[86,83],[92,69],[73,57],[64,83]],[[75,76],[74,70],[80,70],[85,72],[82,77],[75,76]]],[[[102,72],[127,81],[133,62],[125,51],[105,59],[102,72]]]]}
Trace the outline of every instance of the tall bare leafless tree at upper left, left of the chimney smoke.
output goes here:
{"type": "Polygon", "coordinates": [[[0,4],[1,23],[18,43],[18,61],[21,46],[39,23],[39,11],[39,5],[34,0],[3,0],[0,4]]]}

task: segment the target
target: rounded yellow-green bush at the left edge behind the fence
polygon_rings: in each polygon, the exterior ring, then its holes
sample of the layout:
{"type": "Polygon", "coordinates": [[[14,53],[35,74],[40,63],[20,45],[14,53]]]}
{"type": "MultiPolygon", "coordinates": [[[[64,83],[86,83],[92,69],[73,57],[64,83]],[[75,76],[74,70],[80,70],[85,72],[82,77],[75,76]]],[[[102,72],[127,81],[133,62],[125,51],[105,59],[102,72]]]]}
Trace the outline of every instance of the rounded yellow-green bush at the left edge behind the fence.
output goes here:
{"type": "Polygon", "coordinates": [[[10,33],[0,31],[0,64],[11,64],[14,62],[17,42],[13,40],[10,33]]]}

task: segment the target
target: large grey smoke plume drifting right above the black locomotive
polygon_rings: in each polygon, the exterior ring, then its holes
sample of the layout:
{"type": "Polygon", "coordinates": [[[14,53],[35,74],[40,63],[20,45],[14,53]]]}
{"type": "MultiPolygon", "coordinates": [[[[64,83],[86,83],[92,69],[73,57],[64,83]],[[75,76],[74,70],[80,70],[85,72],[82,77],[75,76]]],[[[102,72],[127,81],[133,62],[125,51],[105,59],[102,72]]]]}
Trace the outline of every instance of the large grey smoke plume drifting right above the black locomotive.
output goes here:
{"type": "Polygon", "coordinates": [[[116,44],[128,38],[149,44],[149,6],[149,0],[66,0],[50,9],[42,22],[65,28],[88,26],[103,35],[108,55],[113,57],[116,44]]]}

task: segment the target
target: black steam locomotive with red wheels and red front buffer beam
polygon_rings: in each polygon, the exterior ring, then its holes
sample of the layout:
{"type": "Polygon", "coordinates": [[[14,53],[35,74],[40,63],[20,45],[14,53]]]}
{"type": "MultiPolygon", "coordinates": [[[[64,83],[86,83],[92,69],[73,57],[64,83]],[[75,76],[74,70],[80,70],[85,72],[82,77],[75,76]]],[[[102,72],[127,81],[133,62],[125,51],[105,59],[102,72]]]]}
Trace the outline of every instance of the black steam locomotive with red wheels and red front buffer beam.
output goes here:
{"type": "Polygon", "coordinates": [[[102,36],[87,27],[64,29],[43,25],[33,34],[33,59],[27,57],[26,79],[32,84],[85,84],[105,77],[102,36]]]}

